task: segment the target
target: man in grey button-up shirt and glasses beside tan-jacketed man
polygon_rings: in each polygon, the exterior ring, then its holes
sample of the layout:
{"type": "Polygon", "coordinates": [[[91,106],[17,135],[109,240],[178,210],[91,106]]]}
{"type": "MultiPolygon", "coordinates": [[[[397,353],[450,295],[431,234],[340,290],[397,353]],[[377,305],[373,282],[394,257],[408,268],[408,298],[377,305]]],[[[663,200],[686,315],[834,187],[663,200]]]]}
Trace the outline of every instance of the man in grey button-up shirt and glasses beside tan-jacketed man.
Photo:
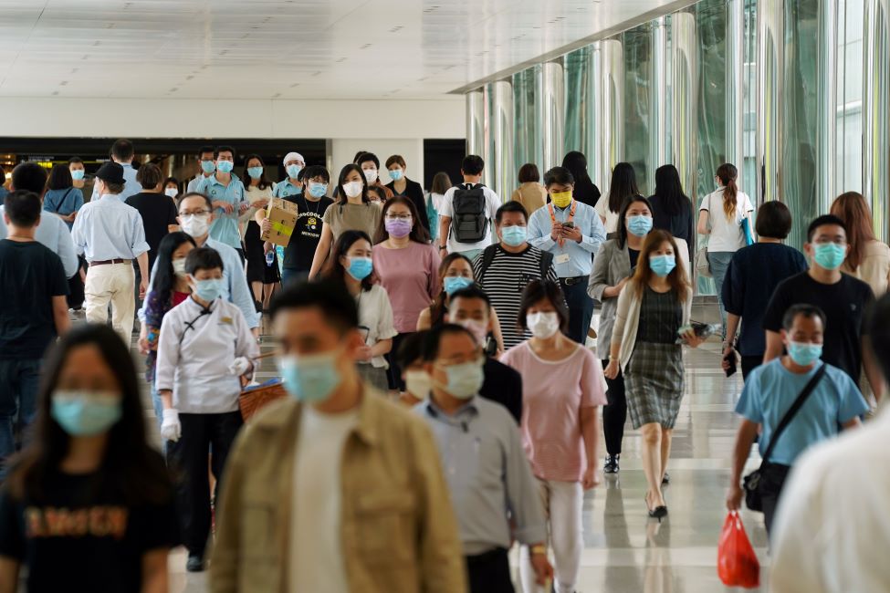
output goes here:
{"type": "Polygon", "coordinates": [[[471,593],[512,592],[508,548],[537,585],[553,576],[537,484],[516,424],[503,406],[478,397],[484,355],[466,328],[445,324],[424,339],[429,400],[414,413],[430,426],[455,504],[471,593]],[[531,553],[529,554],[529,549],[531,553]]]}

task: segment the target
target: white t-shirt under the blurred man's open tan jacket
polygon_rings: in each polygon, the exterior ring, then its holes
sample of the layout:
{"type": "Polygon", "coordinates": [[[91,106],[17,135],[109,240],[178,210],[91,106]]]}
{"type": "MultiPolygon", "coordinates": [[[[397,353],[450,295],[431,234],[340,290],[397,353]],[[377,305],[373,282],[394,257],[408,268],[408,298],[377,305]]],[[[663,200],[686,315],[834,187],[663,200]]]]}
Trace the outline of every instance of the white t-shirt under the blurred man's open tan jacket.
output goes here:
{"type": "Polygon", "coordinates": [[[343,446],[358,421],[358,409],[324,414],[303,407],[290,514],[291,593],[350,593],[340,536],[340,471],[343,446]]]}

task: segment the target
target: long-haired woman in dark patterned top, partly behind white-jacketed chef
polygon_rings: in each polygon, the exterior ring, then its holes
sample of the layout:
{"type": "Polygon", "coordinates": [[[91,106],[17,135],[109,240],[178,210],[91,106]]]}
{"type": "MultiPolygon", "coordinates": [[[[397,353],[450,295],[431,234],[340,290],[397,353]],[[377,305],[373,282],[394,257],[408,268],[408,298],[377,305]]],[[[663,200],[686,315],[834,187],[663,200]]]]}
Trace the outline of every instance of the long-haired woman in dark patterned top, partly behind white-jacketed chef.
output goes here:
{"type": "Polygon", "coordinates": [[[165,236],[158,246],[152,289],[145,296],[144,319],[139,332],[139,351],[145,355],[145,380],[152,386],[154,417],[159,429],[163,405],[154,382],[158,338],[161,335],[163,317],[192,294],[192,288],[185,274],[185,256],[189,255],[194,247],[194,239],[183,232],[165,236]]]}

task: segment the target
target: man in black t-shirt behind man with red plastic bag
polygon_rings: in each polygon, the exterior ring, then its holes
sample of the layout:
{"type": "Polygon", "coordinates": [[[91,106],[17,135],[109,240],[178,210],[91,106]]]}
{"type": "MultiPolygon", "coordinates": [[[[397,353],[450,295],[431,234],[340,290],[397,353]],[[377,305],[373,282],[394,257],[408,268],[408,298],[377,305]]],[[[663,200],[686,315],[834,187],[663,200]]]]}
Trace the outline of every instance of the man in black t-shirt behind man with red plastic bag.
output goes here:
{"type": "Polygon", "coordinates": [[[827,319],[822,360],[843,369],[857,384],[864,369],[874,396],[880,401],[882,381],[870,349],[865,347],[865,309],[874,301],[874,295],[867,284],[841,273],[849,250],[846,228],[839,218],[829,214],[810,224],[804,244],[810,269],[782,282],[770,298],[763,317],[767,332],[763,361],[782,354],[780,331],[785,311],[792,305],[814,305],[822,309],[827,319]]]}

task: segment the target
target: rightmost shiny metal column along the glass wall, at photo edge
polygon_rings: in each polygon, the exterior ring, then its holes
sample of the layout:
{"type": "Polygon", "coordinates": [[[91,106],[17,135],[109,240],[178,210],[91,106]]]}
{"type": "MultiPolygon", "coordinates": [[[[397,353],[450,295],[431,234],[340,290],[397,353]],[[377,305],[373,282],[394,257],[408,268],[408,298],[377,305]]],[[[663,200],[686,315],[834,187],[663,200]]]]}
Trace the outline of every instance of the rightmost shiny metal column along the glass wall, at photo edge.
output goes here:
{"type": "Polygon", "coordinates": [[[875,236],[890,240],[890,0],[865,0],[863,189],[875,236]]]}

